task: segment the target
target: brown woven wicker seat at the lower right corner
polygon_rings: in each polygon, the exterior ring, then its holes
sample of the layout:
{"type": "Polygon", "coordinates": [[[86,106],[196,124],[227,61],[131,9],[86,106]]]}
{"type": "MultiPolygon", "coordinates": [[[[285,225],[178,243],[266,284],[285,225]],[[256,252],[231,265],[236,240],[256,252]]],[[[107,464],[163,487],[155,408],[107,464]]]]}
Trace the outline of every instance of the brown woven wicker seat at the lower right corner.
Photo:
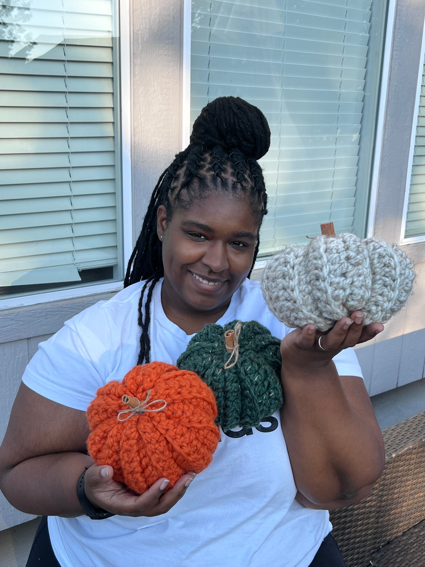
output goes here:
{"type": "Polygon", "coordinates": [[[386,464],[371,494],[331,513],[347,567],[425,566],[425,413],[383,431],[386,464]]]}

